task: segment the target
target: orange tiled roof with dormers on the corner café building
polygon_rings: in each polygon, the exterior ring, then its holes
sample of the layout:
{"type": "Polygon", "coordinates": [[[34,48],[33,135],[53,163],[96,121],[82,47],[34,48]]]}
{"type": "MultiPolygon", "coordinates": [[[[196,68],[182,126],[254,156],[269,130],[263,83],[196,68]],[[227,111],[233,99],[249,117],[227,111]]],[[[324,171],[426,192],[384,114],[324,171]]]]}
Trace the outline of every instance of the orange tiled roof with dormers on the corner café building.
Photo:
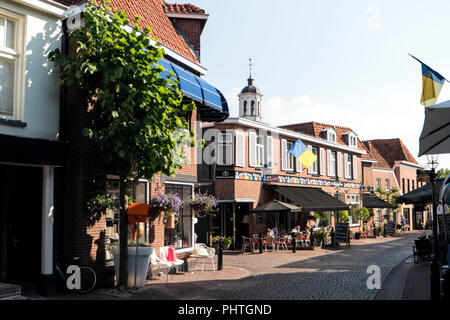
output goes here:
{"type": "MultiPolygon", "coordinates": [[[[304,123],[296,123],[296,124],[289,124],[280,126],[280,128],[292,130],[296,132],[302,132],[304,134],[313,136],[315,138],[323,139],[321,132],[326,129],[334,129],[336,131],[336,143],[343,144],[348,146],[347,142],[344,140],[344,135],[349,132],[353,132],[351,128],[348,127],[341,127],[336,126],[332,124],[326,124],[326,123],[320,123],[320,122],[304,122],[304,123]]],[[[356,135],[356,134],[355,134],[356,135]]],[[[361,155],[362,159],[365,160],[376,160],[370,153],[370,150],[368,150],[365,145],[357,138],[358,141],[358,149],[363,149],[367,151],[367,154],[361,155]]]]}

